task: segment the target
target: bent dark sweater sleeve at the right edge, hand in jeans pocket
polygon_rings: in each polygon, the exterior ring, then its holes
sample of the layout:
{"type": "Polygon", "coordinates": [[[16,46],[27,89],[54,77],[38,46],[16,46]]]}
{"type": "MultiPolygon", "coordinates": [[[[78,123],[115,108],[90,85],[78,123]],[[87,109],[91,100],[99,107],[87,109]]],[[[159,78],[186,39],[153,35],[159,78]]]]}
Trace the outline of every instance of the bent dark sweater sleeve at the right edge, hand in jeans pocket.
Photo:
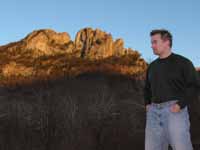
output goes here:
{"type": "Polygon", "coordinates": [[[183,77],[185,81],[185,96],[182,100],[177,102],[181,109],[189,103],[192,97],[196,94],[196,89],[200,87],[199,75],[191,61],[184,64],[183,77]]]}

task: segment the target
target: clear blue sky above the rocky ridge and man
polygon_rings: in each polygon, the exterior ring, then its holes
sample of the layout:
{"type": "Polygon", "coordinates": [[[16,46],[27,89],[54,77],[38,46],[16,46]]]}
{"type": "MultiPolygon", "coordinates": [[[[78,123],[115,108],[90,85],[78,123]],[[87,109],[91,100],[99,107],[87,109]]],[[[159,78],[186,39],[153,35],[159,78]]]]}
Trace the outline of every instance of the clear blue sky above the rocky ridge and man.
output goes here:
{"type": "Polygon", "coordinates": [[[18,41],[36,29],[75,34],[100,28],[146,61],[154,56],[149,32],[165,28],[174,37],[173,51],[200,66],[199,0],[6,0],[0,5],[0,45],[18,41]]]}

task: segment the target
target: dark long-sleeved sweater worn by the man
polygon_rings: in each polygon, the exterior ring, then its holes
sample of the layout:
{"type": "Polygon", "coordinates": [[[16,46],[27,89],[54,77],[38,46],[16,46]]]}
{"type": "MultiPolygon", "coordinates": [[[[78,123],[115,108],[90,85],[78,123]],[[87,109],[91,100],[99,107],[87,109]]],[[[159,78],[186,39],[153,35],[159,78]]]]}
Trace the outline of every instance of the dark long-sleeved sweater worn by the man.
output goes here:
{"type": "Polygon", "coordinates": [[[157,58],[147,69],[144,87],[145,105],[178,100],[181,108],[190,101],[200,80],[192,62],[175,53],[157,58]]]}

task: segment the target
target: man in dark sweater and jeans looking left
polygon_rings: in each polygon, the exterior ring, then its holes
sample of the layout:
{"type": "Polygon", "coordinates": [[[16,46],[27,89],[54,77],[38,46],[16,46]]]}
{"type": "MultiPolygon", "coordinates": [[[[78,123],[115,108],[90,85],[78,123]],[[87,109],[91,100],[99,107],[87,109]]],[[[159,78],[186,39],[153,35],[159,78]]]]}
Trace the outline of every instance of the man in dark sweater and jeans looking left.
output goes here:
{"type": "Polygon", "coordinates": [[[150,36],[158,58],[148,66],[144,88],[145,150],[168,150],[169,145],[173,150],[192,150],[188,104],[197,72],[189,59],[172,52],[169,31],[153,30],[150,36]]]}

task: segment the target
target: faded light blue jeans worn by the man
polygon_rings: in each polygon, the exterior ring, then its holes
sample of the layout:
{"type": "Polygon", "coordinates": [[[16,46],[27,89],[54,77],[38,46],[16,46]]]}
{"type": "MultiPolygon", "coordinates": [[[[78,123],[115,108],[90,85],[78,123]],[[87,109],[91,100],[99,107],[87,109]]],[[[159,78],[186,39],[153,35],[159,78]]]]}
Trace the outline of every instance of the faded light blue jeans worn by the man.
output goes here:
{"type": "Polygon", "coordinates": [[[170,111],[176,100],[152,103],[147,111],[145,150],[193,150],[190,137],[190,119],[187,106],[180,112],[170,111]]]}

